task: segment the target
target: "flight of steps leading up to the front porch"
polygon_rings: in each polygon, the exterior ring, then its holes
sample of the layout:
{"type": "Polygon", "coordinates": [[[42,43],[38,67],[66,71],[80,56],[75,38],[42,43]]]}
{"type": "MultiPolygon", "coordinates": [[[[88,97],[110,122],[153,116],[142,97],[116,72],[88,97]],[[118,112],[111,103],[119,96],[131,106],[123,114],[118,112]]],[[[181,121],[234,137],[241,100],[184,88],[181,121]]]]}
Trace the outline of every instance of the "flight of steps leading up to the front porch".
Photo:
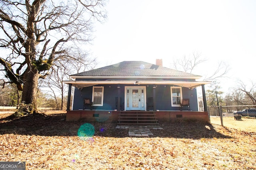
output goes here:
{"type": "Polygon", "coordinates": [[[153,111],[121,111],[118,125],[158,125],[153,111]]]}

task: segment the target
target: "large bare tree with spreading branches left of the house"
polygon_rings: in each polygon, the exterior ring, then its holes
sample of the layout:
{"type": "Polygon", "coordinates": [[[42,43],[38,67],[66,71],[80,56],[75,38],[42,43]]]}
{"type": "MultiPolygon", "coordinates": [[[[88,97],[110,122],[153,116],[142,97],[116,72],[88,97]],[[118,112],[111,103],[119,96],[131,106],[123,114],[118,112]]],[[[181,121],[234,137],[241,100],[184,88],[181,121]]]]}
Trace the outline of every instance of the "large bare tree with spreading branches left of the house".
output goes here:
{"type": "Polygon", "coordinates": [[[1,0],[2,85],[14,83],[22,102],[36,111],[38,79],[57,61],[76,59],[77,47],[91,40],[92,23],[106,17],[103,0],[1,0]]]}

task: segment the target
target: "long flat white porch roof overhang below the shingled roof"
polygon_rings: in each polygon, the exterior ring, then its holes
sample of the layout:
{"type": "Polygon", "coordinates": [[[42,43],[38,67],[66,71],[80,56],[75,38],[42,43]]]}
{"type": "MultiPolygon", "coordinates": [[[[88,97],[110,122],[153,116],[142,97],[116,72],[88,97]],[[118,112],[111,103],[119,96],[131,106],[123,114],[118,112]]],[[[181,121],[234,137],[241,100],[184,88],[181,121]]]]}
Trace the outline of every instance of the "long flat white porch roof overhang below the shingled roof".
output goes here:
{"type": "Polygon", "coordinates": [[[182,86],[187,88],[196,88],[203,84],[209,84],[206,81],[167,81],[167,80],[103,80],[103,81],[63,81],[65,84],[72,84],[72,86],[77,88],[84,88],[89,86],[94,86],[98,84],[171,84],[176,86],[182,86]]]}

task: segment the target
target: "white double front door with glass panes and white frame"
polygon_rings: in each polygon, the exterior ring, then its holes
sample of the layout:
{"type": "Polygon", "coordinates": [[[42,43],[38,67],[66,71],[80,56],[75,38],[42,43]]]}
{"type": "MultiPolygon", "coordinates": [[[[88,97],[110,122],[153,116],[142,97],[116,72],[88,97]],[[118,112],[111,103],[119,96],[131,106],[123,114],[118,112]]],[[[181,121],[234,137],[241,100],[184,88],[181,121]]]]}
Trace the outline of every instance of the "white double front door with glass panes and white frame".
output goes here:
{"type": "Polygon", "coordinates": [[[145,87],[126,87],[126,110],[145,110],[145,87]]]}

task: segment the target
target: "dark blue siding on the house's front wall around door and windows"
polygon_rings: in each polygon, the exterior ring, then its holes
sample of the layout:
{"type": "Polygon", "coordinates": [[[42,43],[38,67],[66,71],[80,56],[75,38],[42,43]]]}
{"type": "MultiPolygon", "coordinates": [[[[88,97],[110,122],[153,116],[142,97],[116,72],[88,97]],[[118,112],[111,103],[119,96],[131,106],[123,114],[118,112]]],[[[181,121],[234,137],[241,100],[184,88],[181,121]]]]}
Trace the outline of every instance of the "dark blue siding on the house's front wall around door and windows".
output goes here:
{"type": "MultiPolygon", "coordinates": [[[[104,86],[104,100],[103,106],[93,106],[93,109],[98,110],[114,110],[116,108],[116,97],[118,97],[117,84],[113,85],[98,85],[104,86]]],[[[126,84],[120,85],[121,104],[124,103],[124,86],[130,86],[126,84]]],[[[146,97],[153,97],[152,84],[143,85],[146,86],[146,97]]],[[[179,107],[172,107],[171,101],[171,85],[157,85],[156,87],[156,109],[158,110],[179,110],[179,107]]],[[[190,99],[190,109],[192,111],[198,111],[196,88],[190,90],[189,88],[182,87],[182,98],[190,99]]],[[[74,104],[73,110],[83,109],[84,98],[92,99],[92,86],[78,89],[74,91],[74,104]]],[[[121,109],[124,109],[121,108],[121,109]]]]}

